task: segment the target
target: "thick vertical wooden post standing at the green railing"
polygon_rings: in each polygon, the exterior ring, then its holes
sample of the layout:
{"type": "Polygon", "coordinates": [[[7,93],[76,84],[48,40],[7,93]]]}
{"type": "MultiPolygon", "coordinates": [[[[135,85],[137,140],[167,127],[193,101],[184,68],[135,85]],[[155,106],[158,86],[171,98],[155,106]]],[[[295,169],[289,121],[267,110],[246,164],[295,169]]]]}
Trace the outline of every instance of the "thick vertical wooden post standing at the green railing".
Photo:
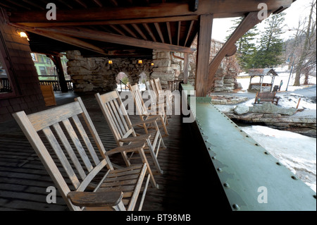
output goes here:
{"type": "Polygon", "coordinates": [[[197,42],[195,90],[197,97],[206,97],[213,14],[201,15],[197,42]]]}

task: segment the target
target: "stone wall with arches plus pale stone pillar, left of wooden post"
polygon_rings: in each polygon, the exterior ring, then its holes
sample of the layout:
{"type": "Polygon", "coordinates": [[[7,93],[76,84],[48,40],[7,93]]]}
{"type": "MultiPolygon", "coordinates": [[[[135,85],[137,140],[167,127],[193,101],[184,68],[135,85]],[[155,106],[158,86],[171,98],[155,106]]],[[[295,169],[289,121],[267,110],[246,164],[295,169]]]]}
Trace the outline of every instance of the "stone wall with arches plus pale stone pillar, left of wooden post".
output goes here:
{"type": "Polygon", "coordinates": [[[75,92],[111,91],[120,72],[128,75],[130,84],[139,83],[141,76],[142,80],[160,78],[163,89],[170,88],[169,81],[183,78],[184,60],[180,58],[184,54],[176,52],[153,50],[153,60],[143,59],[142,64],[137,59],[84,58],[80,51],[67,51],[66,57],[75,92]]]}

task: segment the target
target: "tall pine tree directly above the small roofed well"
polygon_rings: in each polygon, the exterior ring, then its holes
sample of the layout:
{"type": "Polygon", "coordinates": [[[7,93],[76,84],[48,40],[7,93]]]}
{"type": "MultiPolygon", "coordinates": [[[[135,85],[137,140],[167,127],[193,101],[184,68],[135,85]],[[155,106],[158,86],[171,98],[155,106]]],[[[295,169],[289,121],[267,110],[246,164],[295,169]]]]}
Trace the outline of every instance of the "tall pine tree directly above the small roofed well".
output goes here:
{"type": "Polygon", "coordinates": [[[274,14],[266,19],[266,31],[262,33],[259,50],[255,52],[249,68],[271,68],[282,63],[283,40],[282,27],[285,13],[274,14]]]}

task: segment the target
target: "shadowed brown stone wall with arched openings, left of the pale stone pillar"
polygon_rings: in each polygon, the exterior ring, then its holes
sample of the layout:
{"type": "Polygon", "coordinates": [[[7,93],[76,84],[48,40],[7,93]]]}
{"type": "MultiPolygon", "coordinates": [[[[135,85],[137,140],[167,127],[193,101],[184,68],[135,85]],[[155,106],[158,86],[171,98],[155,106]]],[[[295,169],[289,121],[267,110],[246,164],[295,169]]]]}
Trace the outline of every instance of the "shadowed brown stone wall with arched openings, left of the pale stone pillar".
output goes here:
{"type": "Polygon", "coordinates": [[[106,57],[84,58],[80,51],[67,51],[67,73],[74,85],[75,92],[111,91],[116,86],[116,76],[123,72],[128,75],[129,83],[139,83],[139,75],[151,72],[151,60],[110,59],[106,57]],[[113,63],[109,64],[111,60],[113,63]]]}

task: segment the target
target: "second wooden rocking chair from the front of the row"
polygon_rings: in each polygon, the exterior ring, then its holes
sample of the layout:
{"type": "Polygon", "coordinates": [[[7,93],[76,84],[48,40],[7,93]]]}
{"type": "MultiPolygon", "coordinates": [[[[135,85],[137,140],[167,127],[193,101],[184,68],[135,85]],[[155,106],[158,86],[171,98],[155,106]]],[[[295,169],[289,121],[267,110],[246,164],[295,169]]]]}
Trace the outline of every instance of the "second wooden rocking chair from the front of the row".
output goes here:
{"type": "MultiPolygon", "coordinates": [[[[159,133],[152,137],[149,133],[137,136],[137,134],[135,133],[135,129],[133,128],[137,125],[143,125],[143,123],[153,123],[154,126],[156,126],[159,130],[156,123],[157,118],[151,118],[147,121],[139,121],[138,123],[132,124],[128,116],[128,112],[126,111],[124,104],[120,98],[118,90],[114,90],[103,95],[97,93],[95,97],[97,98],[97,102],[99,103],[99,107],[101,108],[104,117],[106,118],[108,126],[110,126],[111,128],[111,132],[113,133],[113,137],[115,138],[117,145],[123,146],[126,143],[139,141],[147,142],[144,150],[149,150],[157,173],[163,174],[163,171],[159,166],[157,156],[159,154],[159,150],[161,149],[161,145],[163,146],[163,148],[166,147],[163,140],[159,139],[159,133]]],[[[132,155],[130,156],[130,158],[126,154],[123,155],[125,159],[125,164],[127,164],[128,166],[130,166],[131,164],[130,159],[132,159],[132,155]]]]}

